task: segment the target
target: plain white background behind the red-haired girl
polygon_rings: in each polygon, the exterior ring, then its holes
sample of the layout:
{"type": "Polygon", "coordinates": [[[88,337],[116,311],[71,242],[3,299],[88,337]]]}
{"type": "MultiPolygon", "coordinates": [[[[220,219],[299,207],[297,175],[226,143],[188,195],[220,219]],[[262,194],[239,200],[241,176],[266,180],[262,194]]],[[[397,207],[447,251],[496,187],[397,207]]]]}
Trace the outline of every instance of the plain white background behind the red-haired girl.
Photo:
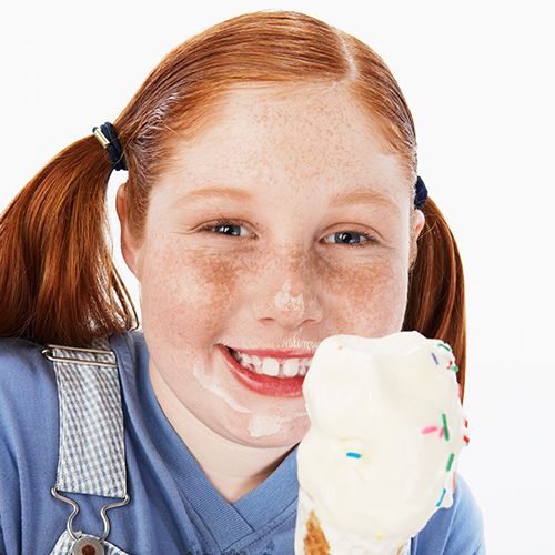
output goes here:
{"type": "Polygon", "coordinates": [[[212,23],[258,9],[294,9],[373,47],[408,100],[420,173],[465,262],[473,437],[460,471],[482,506],[488,553],[555,553],[549,1],[6,4],[0,209],[59,150],[113,121],[171,48],[212,23]]]}

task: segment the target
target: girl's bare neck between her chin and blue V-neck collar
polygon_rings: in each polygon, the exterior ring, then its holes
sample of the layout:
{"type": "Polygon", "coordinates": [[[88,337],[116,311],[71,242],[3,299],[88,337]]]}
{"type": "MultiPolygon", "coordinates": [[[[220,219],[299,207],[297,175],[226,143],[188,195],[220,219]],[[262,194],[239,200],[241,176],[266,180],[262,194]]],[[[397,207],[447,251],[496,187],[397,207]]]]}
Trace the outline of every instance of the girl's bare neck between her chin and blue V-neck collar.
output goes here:
{"type": "Polygon", "coordinates": [[[260,485],[293,446],[256,447],[232,442],[199,421],[173,395],[158,373],[151,372],[154,394],[170,424],[183,440],[200,467],[229,503],[260,485]]]}

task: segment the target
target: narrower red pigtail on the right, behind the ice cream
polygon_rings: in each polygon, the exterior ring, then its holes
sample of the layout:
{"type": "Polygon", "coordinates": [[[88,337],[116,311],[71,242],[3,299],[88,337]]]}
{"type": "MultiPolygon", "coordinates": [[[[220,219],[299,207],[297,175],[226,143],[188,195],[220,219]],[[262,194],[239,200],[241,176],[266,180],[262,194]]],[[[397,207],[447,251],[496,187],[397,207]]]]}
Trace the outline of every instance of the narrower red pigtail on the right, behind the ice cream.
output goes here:
{"type": "Polygon", "coordinates": [[[464,393],[466,314],[461,255],[447,222],[430,198],[422,209],[426,224],[418,238],[418,255],[411,272],[403,330],[417,330],[451,345],[464,393]]]}

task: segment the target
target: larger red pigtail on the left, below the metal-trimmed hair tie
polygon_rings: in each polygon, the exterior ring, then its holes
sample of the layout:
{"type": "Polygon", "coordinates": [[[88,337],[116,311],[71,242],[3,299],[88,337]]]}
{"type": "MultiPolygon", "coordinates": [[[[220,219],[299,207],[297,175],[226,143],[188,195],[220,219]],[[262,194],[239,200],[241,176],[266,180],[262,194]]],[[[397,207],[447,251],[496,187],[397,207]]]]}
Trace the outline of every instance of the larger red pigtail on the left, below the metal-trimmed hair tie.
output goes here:
{"type": "Polygon", "coordinates": [[[0,218],[0,336],[90,345],[137,325],[113,266],[108,154],[93,135],[46,165],[0,218]]]}

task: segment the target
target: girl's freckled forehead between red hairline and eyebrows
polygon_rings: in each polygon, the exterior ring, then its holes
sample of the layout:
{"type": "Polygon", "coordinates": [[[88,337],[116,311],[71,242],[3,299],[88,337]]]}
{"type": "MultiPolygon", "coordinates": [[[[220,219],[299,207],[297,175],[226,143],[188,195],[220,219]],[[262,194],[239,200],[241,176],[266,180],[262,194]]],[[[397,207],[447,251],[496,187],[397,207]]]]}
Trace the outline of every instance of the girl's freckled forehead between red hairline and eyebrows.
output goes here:
{"type": "Polygon", "coordinates": [[[193,137],[174,141],[170,173],[186,189],[209,178],[259,186],[283,180],[303,189],[369,184],[406,196],[411,175],[384,144],[341,85],[245,85],[213,102],[193,137]]]}

